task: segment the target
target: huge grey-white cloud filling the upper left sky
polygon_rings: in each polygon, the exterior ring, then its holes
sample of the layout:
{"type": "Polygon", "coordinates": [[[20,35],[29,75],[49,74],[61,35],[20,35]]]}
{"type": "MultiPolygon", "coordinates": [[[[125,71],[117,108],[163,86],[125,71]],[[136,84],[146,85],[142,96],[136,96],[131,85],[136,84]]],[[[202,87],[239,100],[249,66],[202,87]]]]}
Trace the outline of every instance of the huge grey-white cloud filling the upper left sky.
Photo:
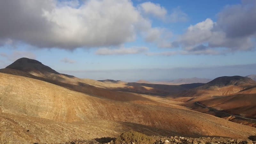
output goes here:
{"type": "Polygon", "coordinates": [[[0,1],[0,19],[1,40],[42,48],[116,46],[135,40],[141,21],[151,28],[130,0],[0,1]]]}

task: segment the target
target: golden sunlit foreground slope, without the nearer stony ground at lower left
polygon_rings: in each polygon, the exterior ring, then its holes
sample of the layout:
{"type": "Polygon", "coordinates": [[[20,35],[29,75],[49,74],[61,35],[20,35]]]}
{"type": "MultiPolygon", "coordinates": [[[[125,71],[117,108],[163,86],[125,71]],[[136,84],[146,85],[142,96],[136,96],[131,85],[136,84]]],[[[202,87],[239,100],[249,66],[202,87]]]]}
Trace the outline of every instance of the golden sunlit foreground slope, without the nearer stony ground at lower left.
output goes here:
{"type": "MultiPolygon", "coordinates": [[[[128,123],[128,125],[135,123],[163,129],[168,132],[167,134],[180,133],[188,136],[245,138],[256,134],[255,128],[187,109],[89,96],[44,81],[10,74],[0,73],[0,78],[0,108],[2,113],[10,114],[13,119],[15,116],[31,116],[35,119],[50,120],[53,125],[55,122],[68,125],[87,122],[87,126],[88,122],[95,124],[96,121],[109,121],[111,124],[128,123]]],[[[34,121],[31,120],[30,123],[33,125],[34,121]]],[[[44,124],[42,131],[48,131],[47,123],[44,124]]],[[[82,129],[83,126],[80,128],[82,129]]],[[[114,124],[109,126],[109,129],[114,131],[117,127],[114,124]]],[[[106,136],[108,135],[106,133],[106,136]]]]}

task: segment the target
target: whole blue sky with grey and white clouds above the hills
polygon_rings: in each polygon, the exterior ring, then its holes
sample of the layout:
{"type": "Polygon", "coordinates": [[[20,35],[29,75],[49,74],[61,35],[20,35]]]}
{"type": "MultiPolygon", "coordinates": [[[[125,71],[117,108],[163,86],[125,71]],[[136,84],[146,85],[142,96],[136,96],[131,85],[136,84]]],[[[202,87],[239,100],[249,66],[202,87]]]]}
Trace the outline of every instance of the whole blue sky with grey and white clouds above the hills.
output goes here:
{"type": "Polygon", "coordinates": [[[256,74],[256,0],[0,0],[0,68],[21,57],[127,82],[256,74]]]}

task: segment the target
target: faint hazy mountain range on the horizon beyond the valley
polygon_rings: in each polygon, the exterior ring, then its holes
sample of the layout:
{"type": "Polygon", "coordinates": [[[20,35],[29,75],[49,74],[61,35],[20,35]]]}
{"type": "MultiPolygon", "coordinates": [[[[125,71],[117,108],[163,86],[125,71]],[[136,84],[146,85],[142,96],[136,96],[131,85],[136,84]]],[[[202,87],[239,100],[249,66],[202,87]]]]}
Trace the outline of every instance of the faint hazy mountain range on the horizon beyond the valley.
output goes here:
{"type": "Polygon", "coordinates": [[[171,80],[171,81],[156,81],[156,82],[139,80],[139,81],[137,81],[137,83],[180,85],[180,84],[192,84],[192,83],[208,83],[211,80],[212,79],[193,77],[193,78],[180,78],[180,79],[175,79],[175,80],[171,80]]]}

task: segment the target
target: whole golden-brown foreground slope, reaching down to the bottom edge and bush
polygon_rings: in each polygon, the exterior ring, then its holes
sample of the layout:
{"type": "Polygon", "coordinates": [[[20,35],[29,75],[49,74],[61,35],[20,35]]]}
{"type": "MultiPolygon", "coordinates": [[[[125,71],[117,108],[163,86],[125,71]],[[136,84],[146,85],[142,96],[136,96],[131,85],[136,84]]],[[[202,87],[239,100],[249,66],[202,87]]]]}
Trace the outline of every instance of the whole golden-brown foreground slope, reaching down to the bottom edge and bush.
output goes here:
{"type": "Polygon", "coordinates": [[[74,139],[87,139],[113,136],[127,129],[138,129],[150,135],[247,138],[256,134],[255,128],[249,126],[168,103],[161,106],[161,98],[148,96],[148,100],[122,102],[23,76],[0,73],[0,78],[0,117],[4,121],[1,133],[11,130],[28,140],[67,141],[70,135],[74,139]],[[159,104],[150,102],[154,100],[159,100],[159,104]],[[31,131],[28,133],[27,129],[31,131]]]}

